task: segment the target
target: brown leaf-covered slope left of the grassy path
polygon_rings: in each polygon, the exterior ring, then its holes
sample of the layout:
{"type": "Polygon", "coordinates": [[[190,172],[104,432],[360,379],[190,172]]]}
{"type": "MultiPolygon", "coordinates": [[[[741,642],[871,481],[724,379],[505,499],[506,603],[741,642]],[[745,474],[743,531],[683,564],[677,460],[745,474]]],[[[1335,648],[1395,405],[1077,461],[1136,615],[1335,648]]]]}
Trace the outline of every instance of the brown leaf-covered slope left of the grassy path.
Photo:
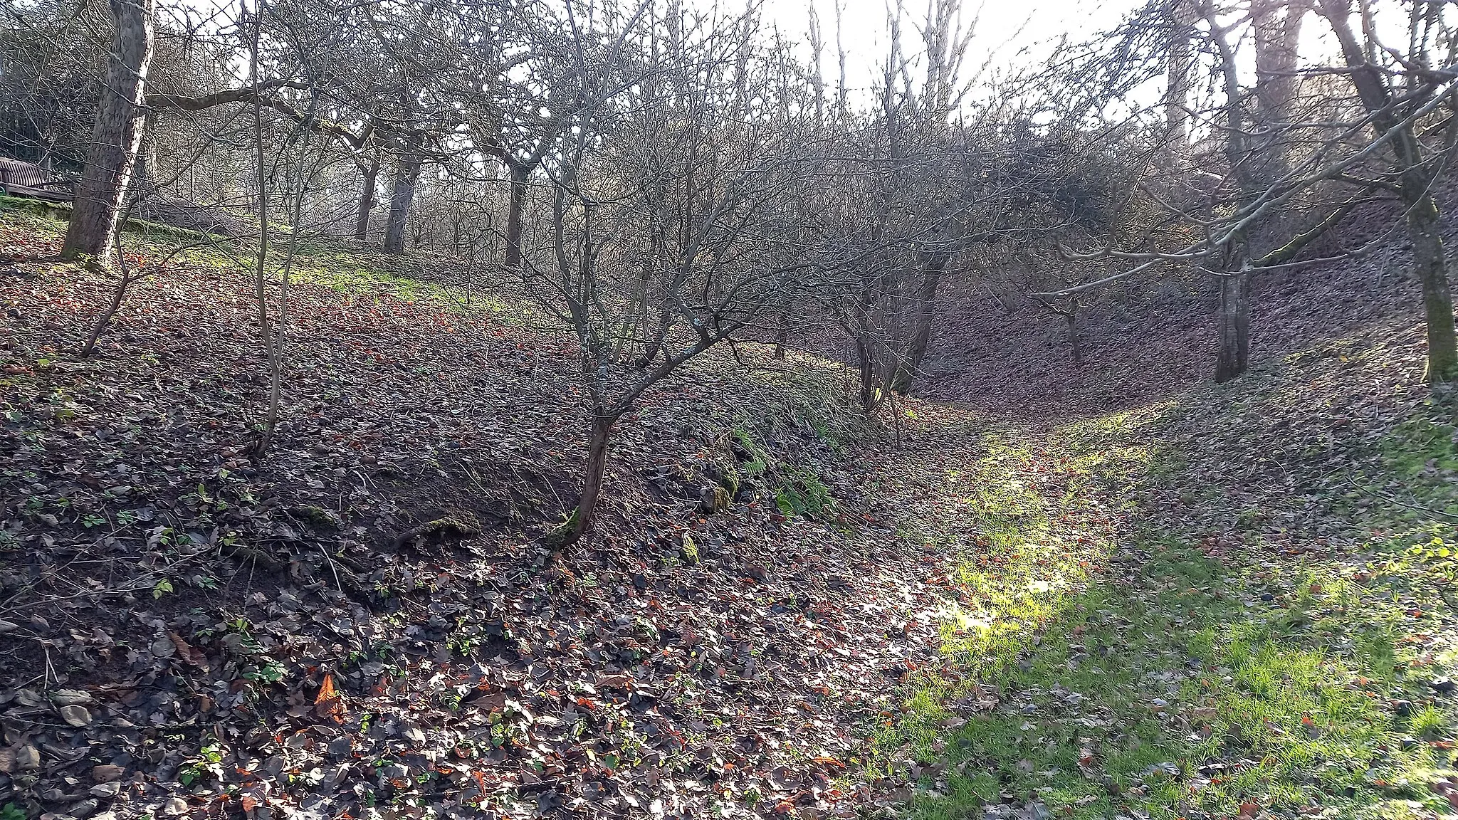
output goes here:
{"type": "MultiPolygon", "coordinates": [[[[12,214],[0,245],[58,229],[12,214]]],[[[312,252],[262,465],[265,366],[223,260],[139,285],[86,360],[105,282],[0,280],[0,805],[849,805],[886,683],[936,658],[945,576],[894,535],[911,490],[868,489],[895,448],[838,372],[741,347],[655,390],[598,533],[542,569],[586,445],[569,341],[312,252]]]]}

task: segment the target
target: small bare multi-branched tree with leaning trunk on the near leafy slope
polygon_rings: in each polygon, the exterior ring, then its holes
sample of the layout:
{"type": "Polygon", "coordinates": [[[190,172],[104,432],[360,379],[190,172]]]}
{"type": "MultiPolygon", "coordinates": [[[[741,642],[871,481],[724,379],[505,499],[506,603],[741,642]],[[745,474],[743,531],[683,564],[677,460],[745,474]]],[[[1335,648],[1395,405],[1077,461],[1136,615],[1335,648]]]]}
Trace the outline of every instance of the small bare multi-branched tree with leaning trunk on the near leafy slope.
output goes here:
{"type": "Polygon", "coordinates": [[[612,430],[639,397],[710,347],[733,341],[816,270],[818,244],[783,219],[806,160],[808,115],[776,123],[773,58],[758,18],[666,19],[607,7],[598,28],[567,9],[579,104],[544,156],[550,248],[522,255],[522,276],[577,340],[588,455],[572,517],[547,537],[561,549],[592,527],[612,430]],[[717,25],[712,25],[717,23],[717,25]],[[656,54],[646,26],[677,38],[656,54]],[[738,66],[738,69],[736,69],[738,66]],[[671,93],[644,95],[656,76],[671,93]],[[761,112],[748,101],[767,102],[761,112]],[[662,181],[646,185],[644,179],[662,181]],[[644,282],[640,254],[658,264],[644,282]],[[663,306],[650,328],[662,355],[646,365],[640,287],[663,306]]]}

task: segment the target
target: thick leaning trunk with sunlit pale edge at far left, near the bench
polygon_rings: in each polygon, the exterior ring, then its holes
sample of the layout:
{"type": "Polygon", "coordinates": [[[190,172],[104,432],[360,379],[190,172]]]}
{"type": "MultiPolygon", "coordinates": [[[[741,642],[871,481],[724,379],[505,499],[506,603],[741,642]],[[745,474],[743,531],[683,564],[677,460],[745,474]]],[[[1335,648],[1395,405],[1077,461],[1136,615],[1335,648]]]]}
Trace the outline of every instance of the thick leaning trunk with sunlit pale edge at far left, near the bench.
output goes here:
{"type": "Polygon", "coordinates": [[[112,233],[127,198],[127,187],[141,147],[147,67],[152,63],[152,0],[111,0],[117,34],[106,63],[106,80],[96,104],[86,168],[76,185],[71,222],[61,258],[89,254],[105,264],[112,233]]]}

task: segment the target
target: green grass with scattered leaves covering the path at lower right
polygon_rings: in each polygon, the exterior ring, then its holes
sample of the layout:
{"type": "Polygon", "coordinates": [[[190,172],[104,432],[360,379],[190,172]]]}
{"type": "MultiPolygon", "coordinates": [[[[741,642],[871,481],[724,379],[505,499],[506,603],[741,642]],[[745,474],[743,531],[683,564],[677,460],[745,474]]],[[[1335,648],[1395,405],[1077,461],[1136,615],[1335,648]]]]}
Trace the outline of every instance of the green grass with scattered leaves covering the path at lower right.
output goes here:
{"type": "MultiPolygon", "coordinates": [[[[1181,498],[1191,467],[1147,446],[1163,410],[993,438],[956,477],[981,534],[948,546],[956,671],[910,687],[868,775],[917,775],[919,820],[996,802],[1075,819],[1448,811],[1429,784],[1458,732],[1429,681],[1455,658],[1429,636],[1458,576],[1451,527],[1392,508],[1346,557],[1280,556],[1260,515],[1217,540],[1172,531],[1150,505],[1181,498]]],[[[1452,429],[1398,430],[1373,479],[1442,509],[1452,429]]],[[[1207,495],[1196,503],[1219,503],[1207,495]]]]}

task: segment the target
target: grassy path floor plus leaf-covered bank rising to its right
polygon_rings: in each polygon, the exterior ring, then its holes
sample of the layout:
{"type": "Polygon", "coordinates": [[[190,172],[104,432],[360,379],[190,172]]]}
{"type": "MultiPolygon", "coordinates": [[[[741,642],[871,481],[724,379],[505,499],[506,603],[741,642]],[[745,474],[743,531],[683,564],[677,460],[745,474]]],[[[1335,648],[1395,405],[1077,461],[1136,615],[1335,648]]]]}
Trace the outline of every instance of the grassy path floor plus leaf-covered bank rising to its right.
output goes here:
{"type": "Polygon", "coordinates": [[[1229,385],[1200,295],[1088,309],[1079,368],[1061,320],[948,295],[919,392],[1000,442],[970,517],[1088,563],[954,622],[977,683],[920,681],[878,741],[913,817],[1451,816],[1458,397],[1424,384],[1404,264],[1260,282],[1229,385]]]}

